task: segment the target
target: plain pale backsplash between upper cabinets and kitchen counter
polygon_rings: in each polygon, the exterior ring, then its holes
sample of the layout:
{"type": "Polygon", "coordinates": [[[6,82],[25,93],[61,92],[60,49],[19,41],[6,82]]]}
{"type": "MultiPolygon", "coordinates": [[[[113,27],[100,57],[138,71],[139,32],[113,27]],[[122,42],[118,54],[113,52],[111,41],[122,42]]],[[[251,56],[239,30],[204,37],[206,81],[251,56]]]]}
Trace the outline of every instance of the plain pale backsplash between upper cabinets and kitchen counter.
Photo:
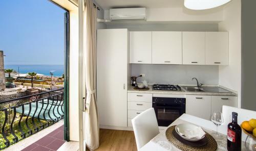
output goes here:
{"type": "Polygon", "coordinates": [[[197,78],[205,85],[218,85],[219,67],[210,65],[153,65],[153,64],[131,64],[131,75],[139,77],[137,82],[147,80],[151,84],[188,84],[195,85],[197,78]]]}

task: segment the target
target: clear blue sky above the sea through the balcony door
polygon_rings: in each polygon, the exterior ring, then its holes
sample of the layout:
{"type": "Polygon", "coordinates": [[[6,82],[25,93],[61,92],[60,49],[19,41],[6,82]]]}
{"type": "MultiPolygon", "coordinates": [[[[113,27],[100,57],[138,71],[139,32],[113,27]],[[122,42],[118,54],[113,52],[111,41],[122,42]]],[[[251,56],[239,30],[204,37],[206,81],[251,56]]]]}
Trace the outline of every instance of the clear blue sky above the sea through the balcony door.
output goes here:
{"type": "Polygon", "coordinates": [[[47,0],[0,1],[5,64],[64,64],[64,13],[47,0]]]}

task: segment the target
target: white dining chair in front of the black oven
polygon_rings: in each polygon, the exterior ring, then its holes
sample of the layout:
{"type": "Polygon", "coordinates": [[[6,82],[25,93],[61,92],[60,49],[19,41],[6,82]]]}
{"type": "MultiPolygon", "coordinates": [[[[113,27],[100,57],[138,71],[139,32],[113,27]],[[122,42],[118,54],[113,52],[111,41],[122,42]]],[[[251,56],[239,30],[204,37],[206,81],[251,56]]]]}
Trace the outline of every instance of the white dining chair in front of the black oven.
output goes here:
{"type": "Polygon", "coordinates": [[[137,149],[159,134],[154,108],[147,109],[132,119],[137,149]]]}

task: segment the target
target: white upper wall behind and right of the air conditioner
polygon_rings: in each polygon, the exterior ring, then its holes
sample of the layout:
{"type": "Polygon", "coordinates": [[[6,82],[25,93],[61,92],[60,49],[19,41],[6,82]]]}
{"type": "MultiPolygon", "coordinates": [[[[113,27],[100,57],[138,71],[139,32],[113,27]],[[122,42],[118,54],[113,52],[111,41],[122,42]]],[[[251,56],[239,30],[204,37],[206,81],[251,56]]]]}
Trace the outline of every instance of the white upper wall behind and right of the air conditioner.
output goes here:
{"type": "MultiPolygon", "coordinates": [[[[193,11],[186,8],[147,8],[147,21],[222,21],[222,7],[193,11]]],[[[105,10],[104,18],[109,19],[109,10],[105,10]]]]}

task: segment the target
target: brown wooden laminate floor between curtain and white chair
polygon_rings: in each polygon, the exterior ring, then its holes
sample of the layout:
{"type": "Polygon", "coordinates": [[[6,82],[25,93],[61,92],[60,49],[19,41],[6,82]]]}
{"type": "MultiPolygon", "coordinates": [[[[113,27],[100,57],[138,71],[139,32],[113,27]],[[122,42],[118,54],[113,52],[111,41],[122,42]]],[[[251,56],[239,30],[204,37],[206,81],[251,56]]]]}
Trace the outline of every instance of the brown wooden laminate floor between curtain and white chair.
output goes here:
{"type": "Polygon", "coordinates": [[[133,131],[100,129],[100,146],[96,151],[136,151],[136,141],[133,131]]]}

